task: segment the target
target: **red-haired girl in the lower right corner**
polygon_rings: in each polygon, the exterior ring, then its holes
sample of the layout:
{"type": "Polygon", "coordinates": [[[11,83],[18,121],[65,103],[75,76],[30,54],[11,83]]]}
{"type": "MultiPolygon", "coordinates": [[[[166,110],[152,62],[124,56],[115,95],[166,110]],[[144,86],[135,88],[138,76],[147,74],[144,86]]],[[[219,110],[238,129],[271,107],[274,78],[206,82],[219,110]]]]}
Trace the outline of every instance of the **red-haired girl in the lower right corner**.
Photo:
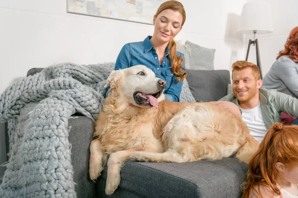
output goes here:
{"type": "Polygon", "coordinates": [[[298,198],[298,126],[275,123],[248,164],[244,198],[298,198]]]}

